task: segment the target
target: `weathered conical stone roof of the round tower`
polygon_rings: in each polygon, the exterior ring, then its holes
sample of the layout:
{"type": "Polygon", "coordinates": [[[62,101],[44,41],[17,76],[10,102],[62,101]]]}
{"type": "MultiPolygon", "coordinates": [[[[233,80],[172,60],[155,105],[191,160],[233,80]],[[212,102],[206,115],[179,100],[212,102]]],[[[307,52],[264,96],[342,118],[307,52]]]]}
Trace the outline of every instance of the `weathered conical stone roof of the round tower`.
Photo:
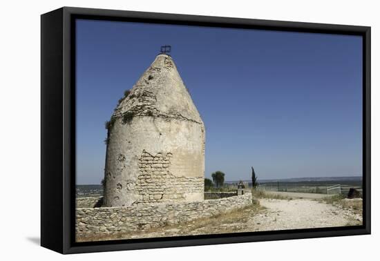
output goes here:
{"type": "Polygon", "coordinates": [[[180,119],[202,124],[198,110],[169,55],[160,54],[155,57],[113,113],[113,117],[123,117],[123,121],[136,116],[180,119]]]}

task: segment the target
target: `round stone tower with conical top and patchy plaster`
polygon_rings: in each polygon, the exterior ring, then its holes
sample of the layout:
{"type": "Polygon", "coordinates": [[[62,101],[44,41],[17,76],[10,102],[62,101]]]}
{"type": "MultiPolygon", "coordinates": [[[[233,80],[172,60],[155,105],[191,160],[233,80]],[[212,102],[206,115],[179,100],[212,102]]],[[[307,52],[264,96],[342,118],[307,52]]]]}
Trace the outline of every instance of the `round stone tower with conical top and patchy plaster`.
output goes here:
{"type": "Polygon", "coordinates": [[[203,200],[205,126],[161,53],[108,122],[105,206],[203,200]]]}

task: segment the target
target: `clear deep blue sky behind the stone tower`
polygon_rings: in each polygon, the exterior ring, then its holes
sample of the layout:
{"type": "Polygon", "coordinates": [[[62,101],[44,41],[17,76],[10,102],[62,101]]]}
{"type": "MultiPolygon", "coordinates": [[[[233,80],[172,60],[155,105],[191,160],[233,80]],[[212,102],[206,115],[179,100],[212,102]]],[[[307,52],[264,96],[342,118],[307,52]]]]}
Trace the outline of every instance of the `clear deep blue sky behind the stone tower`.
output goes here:
{"type": "Polygon", "coordinates": [[[104,175],[117,100],[170,44],[205,122],[205,177],[362,174],[361,37],[77,21],[77,184],[104,175]]]}

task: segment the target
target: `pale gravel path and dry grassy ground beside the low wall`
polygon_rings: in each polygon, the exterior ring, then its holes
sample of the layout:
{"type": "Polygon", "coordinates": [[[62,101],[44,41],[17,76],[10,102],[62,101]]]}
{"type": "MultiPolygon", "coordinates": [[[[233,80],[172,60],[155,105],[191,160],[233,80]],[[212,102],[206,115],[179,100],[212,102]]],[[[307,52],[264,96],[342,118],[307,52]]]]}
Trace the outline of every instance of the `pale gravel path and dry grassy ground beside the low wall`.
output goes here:
{"type": "Polygon", "coordinates": [[[323,200],[263,198],[258,201],[260,204],[212,218],[146,229],[129,235],[97,238],[97,240],[353,226],[363,222],[361,200],[327,203],[323,200]]]}

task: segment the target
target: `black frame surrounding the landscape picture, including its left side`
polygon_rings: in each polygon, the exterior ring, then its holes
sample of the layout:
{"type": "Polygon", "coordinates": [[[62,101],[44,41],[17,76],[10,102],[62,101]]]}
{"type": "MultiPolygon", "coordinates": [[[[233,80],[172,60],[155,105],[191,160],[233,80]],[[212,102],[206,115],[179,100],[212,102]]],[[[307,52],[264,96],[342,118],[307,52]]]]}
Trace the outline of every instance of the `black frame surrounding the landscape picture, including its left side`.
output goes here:
{"type": "Polygon", "coordinates": [[[41,246],[59,253],[370,234],[370,27],[64,7],[41,15],[41,246]],[[251,28],[363,37],[363,225],[75,242],[75,19],[251,28]]]}

